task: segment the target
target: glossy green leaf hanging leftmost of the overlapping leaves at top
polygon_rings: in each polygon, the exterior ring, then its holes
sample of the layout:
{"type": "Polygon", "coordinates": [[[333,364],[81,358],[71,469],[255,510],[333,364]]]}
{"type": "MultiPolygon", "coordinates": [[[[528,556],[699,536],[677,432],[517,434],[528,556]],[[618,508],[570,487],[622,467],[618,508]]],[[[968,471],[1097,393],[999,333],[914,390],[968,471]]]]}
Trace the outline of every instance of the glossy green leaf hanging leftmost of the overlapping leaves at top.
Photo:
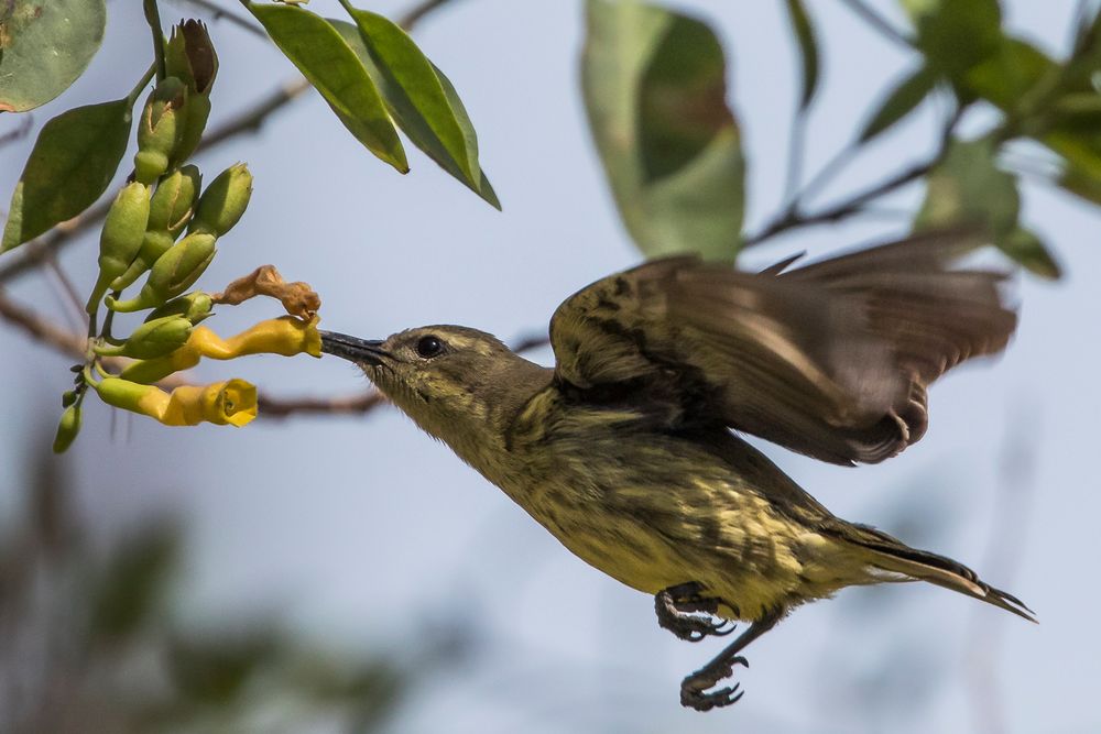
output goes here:
{"type": "Polygon", "coordinates": [[[379,89],[337,30],[296,6],[244,4],[352,135],[381,161],[408,173],[405,149],[379,89]]]}

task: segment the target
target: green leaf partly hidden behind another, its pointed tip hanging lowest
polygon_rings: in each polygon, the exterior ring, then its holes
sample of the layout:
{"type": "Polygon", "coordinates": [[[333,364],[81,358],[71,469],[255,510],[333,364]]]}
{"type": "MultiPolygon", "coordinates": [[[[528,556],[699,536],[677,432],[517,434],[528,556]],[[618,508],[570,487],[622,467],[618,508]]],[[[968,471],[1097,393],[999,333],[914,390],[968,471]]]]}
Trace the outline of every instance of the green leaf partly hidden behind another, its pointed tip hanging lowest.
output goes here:
{"type": "MultiPolygon", "coordinates": [[[[467,172],[460,167],[458,161],[448,152],[439,136],[433,132],[433,129],[425,120],[425,117],[417,110],[408,94],[397,84],[392,75],[383,73],[375,63],[374,57],[368,51],[367,44],[360,35],[359,29],[347,21],[329,20],[328,22],[340,33],[345,42],[356,52],[356,55],[359,56],[367,73],[379,87],[379,91],[382,94],[382,99],[391,117],[402,129],[402,132],[413,141],[413,144],[475,194],[482,197],[491,206],[500,209],[501,202],[498,200],[497,194],[493,191],[493,187],[490,185],[486,174],[482,173],[481,167],[478,167],[478,177],[476,179],[471,179],[467,172]]],[[[464,140],[469,139],[472,143],[475,164],[478,165],[477,138],[475,136],[470,118],[467,116],[466,109],[462,107],[462,102],[459,101],[459,97],[448,78],[435,66],[432,66],[432,69],[455,116],[455,121],[461,131],[464,140]]]]}

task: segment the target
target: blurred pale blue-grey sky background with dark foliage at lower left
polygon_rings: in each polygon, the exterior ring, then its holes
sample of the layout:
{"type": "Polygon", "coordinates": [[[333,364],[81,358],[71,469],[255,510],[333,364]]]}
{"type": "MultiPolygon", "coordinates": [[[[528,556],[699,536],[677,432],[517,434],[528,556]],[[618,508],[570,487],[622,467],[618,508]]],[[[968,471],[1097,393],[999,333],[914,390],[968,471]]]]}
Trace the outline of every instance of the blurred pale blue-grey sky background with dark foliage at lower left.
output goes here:
{"type": "MultiPolygon", "coordinates": [[[[210,23],[221,59],[212,124],[294,78],[264,40],[195,4],[162,4],[166,23],[210,23]]],[[[370,4],[392,18],[407,9],[370,4]]],[[[749,157],[750,229],[759,229],[782,202],[797,96],[782,3],[668,4],[721,35],[749,157]]],[[[900,17],[892,2],[870,4],[900,17]]],[[[1075,2],[1004,6],[1014,32],[1066,51],[1075,2]]],[[[339,11],[335,0],[310,8],[339,11]]],[[[146,63],[140,3],[108,9],[88,73],[33,113],[26,139],[0,149],[4,200],[37,127],[124,95],[146,63]]],[[[205,169],[243,160],[255,175],[249,211],[200,285],[217,289],[274,263],[320,293],[331,329],[381,338],[453,322],[512,341],[544,333],[565,296],[641,259],[587,131],[582,10],[453,0],[416,26],[462,96],[503,212],[417,153],[413,172],[397,176],[307,94],[200,156],[205,169]]],[[[912,59],[846,2],[811,11],[825,55],[807,144],[816,171],[912,59]]],[[[922,160],[936,121],[927,109],[885,135],[827,198],[922,160]]],[[[0,135],[18,123],[6,116],[0,135]]],[[[896,200],[913,210],[919,196],[905,189],[896,200]]],[[[182,430],[89,401],[83,435],[56,458],[48,443],[72,361],[4,324],[0,731],[1101,731],[1101,222],[1027,184],[1024,219],[1066,276],[1017,278],[1015,341],[996,363],[937,384],[919,445],[855,470],[762,448],[837,514],[958,558],[1020,595],[1039,626],[926,585],[848,590],[755,643],[752,669],[738,673],[745,698],[701,715],[679,706],[679,681],[720,643],[690,645],[659,629],[652,600],[570,556],[395,410],[182,430]]],[[[800,250],[821,256],[907,224],[886,216],[804,230],[742,264],[800,250]]],[[[95,272],[95,240],[61,256],[80,288],[95,272]]],[[[48,271],[6,287],[65,322],[48,271]]],[[[231,333],[276,309],[250,302],[222,309],[212,326],[231,333]]],[[[364,386],[348,363],[304,355],[199,374],[241,376],[283,396],[364,386]]]]}

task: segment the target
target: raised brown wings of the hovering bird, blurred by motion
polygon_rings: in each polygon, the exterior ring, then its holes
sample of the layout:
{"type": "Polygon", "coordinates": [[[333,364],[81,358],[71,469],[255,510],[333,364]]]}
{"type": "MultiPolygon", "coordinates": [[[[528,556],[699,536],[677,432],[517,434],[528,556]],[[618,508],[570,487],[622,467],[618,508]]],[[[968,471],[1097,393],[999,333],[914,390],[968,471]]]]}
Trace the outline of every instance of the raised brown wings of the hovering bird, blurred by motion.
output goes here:
{"type": "Polygon", "coordinates": [[[556,377],[585,399],[673,401],[682,425],[721,420],[825,461],[882,461],[925,432],[926,386],[1001,351],[1016,326],[1004,273],[952,267],[982,242],[924,234],[759,274],[650,262],[558,307],[556,377]]]}

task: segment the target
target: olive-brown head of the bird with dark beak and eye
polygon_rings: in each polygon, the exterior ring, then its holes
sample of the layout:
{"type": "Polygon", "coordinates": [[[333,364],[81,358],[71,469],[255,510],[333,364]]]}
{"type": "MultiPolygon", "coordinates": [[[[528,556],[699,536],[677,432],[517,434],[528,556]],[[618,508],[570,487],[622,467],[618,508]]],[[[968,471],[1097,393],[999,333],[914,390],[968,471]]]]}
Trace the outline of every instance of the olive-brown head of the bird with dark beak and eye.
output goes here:
{"type": "MultiPolygon", "coordinates": [[[[459,326],[426,326],[372,341],[321,332],[321,351],[359,365],[418,426],[457,443],[504,430],[536,365],[495,337],[459,326]]],[[[531,393],[527,392],[527,395],[531,393]]]]}

